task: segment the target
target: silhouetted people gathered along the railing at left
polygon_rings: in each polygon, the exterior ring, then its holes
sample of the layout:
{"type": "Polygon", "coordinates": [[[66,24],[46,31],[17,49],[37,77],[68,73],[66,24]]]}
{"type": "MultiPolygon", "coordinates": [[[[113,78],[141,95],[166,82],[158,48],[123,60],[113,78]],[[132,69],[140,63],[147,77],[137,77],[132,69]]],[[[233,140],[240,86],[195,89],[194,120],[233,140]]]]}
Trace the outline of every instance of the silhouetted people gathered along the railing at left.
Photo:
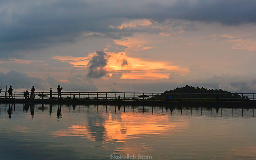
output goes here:
{"type": "MultiPolygon", "coordinates": [[[[0,93],[1,93],[1,86],[0,86],[0,93]]],[[[35,87],[32,86],[31,90],[30,90],[30,96],[29,96],[29,92],[28,90],[26,90],[26,92],[23,92],[23,95],[24,95],[24,98],[25,99],[34,99],[35,98],[35,87]]],[[[61,98],[61,90],[62,90],[62,87],[60,88],[60,85],[58,85],[58,88],[57,88],[57,93],[58,93],[58,99],[61,98]]],[[[12,96],[12,86],[10,86],[10,88],[7,90],[8,94],[9,94],[9,98],[11,98],[12,96]]],[[[13,98],[13,96],[12,96],[13,98]]],[[[50,88],[50,98],[52,98],[52,88],[50,88]]]]}

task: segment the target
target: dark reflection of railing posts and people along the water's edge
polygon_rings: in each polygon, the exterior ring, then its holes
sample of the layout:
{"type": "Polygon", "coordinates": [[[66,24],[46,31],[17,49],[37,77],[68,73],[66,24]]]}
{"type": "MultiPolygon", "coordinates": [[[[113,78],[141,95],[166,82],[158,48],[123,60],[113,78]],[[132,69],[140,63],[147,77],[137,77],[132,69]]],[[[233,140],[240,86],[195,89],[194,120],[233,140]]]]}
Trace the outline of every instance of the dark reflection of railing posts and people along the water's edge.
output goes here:
{"type": "Polygon", "coordinates": [[[175,106],[109,106],[109,105],[62,105],[62,104],[0,104],[0,113],[5,111],[6,116],[12,118],[18,112],[30,110],[33,118],[40,112],[48,112],[49,116],[55,113],[58,120],[62,119],[62,112],[76,112],[80,114],[168,114],[170,116],[220,116],[220,117],[254,117],[252,107],[175,107],[175,106]],[[17,109],[18,108],[18,109],[17,109]]]}

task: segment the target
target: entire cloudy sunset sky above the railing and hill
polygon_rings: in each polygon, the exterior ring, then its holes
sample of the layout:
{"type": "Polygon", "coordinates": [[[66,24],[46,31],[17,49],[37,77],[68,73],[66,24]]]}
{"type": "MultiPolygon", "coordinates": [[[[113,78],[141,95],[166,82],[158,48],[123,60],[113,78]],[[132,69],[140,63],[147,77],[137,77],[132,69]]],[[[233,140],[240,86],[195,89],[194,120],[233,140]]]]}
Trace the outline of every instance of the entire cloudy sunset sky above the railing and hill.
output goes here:
{"type": "Polygon", "coordinates": [[[1,0],[0,86],[256,92],[255,0],[1,0]]]}

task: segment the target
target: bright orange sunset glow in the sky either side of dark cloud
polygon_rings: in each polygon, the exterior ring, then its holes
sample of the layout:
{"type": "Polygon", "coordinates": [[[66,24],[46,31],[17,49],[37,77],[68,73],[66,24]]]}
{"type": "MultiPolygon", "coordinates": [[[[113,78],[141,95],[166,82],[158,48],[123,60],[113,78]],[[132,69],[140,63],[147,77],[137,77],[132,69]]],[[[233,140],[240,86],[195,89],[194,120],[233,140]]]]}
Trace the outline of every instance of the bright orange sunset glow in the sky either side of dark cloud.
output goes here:
{"type": "MultiPolygon", "coordinates": [[[[145,61],[141,58],[132,58],[125,52],[113,54],[106,52],[108,56],[107,65],[104,67],[108,75],[122,73],[121,79],[160,79],[168,78],[170,72],[188,73],[187,68],[170,65],[167,62],[145,61]]],[[[53,59],[68,62],[75,67],[88,68],[88,63],[96,53],[87,57],[54,56],[53,59]]]]}

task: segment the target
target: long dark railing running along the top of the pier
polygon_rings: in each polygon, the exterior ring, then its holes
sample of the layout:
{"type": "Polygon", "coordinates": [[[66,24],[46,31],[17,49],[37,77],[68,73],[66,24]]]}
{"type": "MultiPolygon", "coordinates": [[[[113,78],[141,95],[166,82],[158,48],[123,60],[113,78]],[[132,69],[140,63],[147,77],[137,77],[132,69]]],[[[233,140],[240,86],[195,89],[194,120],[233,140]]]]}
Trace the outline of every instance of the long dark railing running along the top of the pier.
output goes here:
{"type": "MultiPolygon", "coordinates": [[[[29,92],[30,95],[30,92],[29,92]]],[[[255,93],[157,93],[157,92],[61,92],[63,99],[104,100],[173,100],[173,101],[254,101],[255,93]]],[[[24,92],[12,92],[10,98],[25,99],[24,92]]],[[[0,98],[9,98],[9,93],[0,92],[0,98]]],[[[35,92],[34,99],[57,99],[58,92],[35,92]]]]}

